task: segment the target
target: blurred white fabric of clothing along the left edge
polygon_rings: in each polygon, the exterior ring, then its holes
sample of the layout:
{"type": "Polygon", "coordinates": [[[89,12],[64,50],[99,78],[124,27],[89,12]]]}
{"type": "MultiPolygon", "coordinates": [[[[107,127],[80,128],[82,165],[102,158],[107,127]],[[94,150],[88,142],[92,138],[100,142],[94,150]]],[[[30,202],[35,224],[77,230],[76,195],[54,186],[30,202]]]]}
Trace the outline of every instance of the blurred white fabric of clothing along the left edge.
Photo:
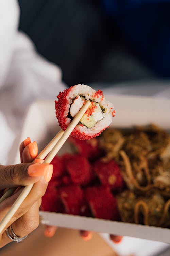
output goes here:
{"type": "MultiPolygon", "coordinates": [[[[16,0],[0,0],[0,162],[5,164],[24,113],[36,99],[53,98],[65,87],[61,70],[36,53],[17,30],[16,0]]],[[[29,136],[29,134],[28,134],[29,136]]]]}

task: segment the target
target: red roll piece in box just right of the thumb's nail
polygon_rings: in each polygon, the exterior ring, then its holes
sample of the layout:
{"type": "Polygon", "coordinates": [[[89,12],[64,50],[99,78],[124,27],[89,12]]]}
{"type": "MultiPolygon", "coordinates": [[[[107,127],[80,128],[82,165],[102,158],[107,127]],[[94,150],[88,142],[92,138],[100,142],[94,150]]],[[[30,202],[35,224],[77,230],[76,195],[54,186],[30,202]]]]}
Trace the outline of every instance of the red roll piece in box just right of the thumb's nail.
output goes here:
{"type": "Polygon", "coordinates": [[[61,157],[55,156],[51,161],[51,164],[53,165],[53,175],[51,178],[52,180],[55,180],[66,173],[65,165],[61,157]]]}

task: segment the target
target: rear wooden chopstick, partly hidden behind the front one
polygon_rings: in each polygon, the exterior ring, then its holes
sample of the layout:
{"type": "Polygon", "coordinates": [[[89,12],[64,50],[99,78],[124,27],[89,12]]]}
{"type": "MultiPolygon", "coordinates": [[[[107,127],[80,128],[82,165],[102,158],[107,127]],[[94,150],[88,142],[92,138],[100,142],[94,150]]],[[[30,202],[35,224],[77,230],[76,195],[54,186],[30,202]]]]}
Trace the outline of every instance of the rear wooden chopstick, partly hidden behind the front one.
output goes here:
{"type": "MultiPolygon", "coordinates": [[[[61,136],[63,135],[64,131],[61,129],[56,136],[48,143],[48,145],[39,153],[36,159],[44,159],[48,153],[52,150],[54,145],[60,140],[61,136]]],[[[34,162],[34,161],[33,161],[34,162]]],[[[10,197],[16,188],[9,188],[5,194],[0,198],[0,203],[3,202],[6,198],[10,197]]]]}

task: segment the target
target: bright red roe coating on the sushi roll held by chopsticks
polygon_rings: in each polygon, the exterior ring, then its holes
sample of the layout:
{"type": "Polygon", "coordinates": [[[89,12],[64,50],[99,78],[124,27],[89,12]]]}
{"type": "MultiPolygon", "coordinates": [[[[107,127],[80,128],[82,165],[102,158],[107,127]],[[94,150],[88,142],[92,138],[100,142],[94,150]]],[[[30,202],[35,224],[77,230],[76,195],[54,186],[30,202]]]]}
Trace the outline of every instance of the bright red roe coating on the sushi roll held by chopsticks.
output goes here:
{"type": "MultiPolygon", "coordinates": [[[[60,124],[60,127],[65,131],[68,127],[68,125],[66,124],[66,117],[65,117],[65,113],[66,113],[66,105],[67,105],[67,96],[71,90],[73,86],[71,86],[70,88],[64,90],[63,92],[60,92],[60,94],[57,96],[58,101],[55,101],[55,109],[56,109],[56,117],[58,119],[58,123],[60,124]]],[[[103,96],[103,92],[101,90],[98,90],[92,97],[96,97],[99,98],[99,96],[102,95],[102,99],[104,98],[103,96]]],[[[95,106],[94,106],[95,107],[95,106]]],[[[88,110],[87,110],[88,111],[88,110]]],[[[94,112],[94,109],[91,110],[92,112],[94,112]]],[[[114,114],[112,114],[114,115],[114,114]]],[[[68,116],[68,113],[67,113],[68,116]]],[[[79,124],[80,126],[83,127],[82,124],[79,124]]],[[[80,132],[79,130],[74,129],[71,133],[71,136],[78,138],[80,140],[90,140],[92,138],[95,138],[96,136],[99,136],[101,134],[102,131],[104,131],[107,127],[105,127],[103,130],[101,130],[100,132],[93,134],[93,135],[88,135],[85,132],[80,132]]]]}

